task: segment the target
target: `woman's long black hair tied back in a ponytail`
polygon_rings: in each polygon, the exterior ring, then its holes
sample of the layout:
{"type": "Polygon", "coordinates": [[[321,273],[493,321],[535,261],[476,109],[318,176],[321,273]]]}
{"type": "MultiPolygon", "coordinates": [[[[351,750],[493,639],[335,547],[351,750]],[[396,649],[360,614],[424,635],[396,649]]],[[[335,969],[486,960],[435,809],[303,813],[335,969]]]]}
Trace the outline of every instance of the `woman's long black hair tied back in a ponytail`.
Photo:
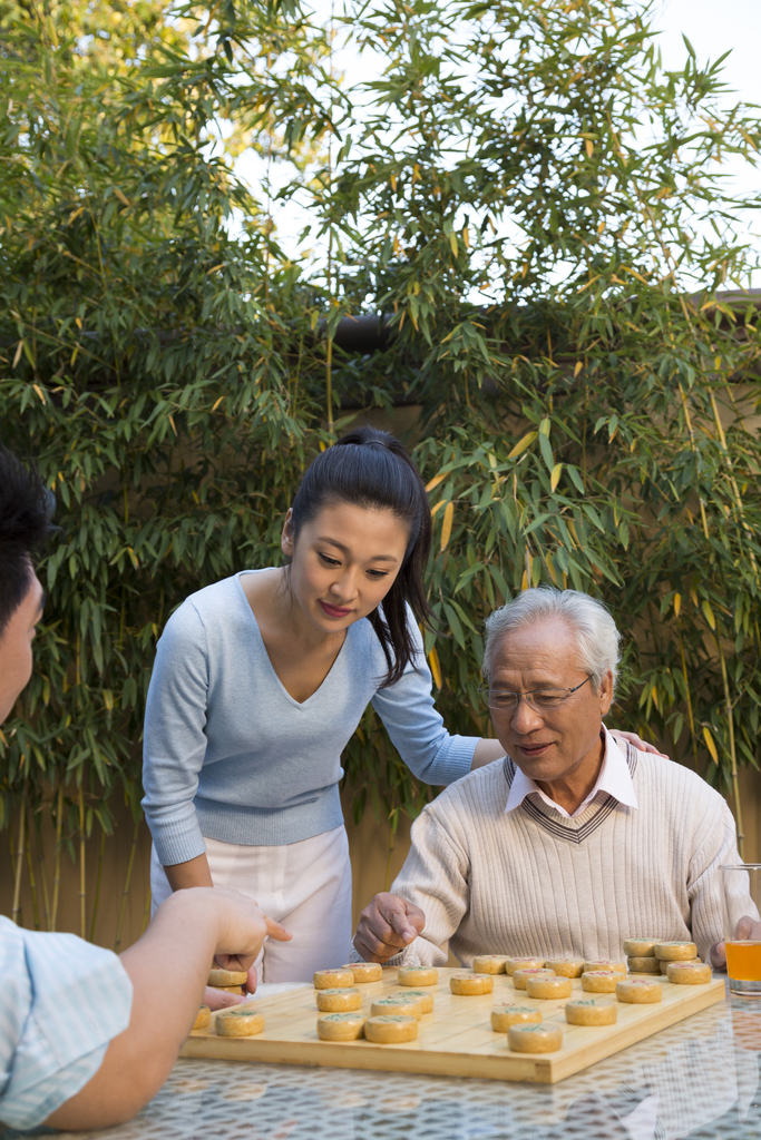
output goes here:
{"type": "Polygon", "coordinates": [[[428,624],[431,616],[423,588],[431,544],[424,483],[404,443],[375,427],[357,427],[321,451],[309,465],[291,508],[294,539],[305,522],[330,503],[391,511],[410,529],[404,562],[383,598],[382,617],[377,609],[367,614],[388,665],[383,686],[392,685],[414,662],[416,652],[405,603],[410,603],[420,622],[428,624]]]}

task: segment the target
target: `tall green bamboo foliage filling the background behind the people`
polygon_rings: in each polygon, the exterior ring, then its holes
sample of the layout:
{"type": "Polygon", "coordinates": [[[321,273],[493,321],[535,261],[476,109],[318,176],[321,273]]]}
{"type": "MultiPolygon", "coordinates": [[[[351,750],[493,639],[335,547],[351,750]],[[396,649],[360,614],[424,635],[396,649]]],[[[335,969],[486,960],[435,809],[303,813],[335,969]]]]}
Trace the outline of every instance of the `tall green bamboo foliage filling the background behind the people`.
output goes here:
{"type": "MultiPolygon", "coordinates": [[[[113,28],[127,10],[87,11],[113,28]]],[[[485,614],[567,584],[626,633],[616,723],[670,736],[722,787],[758,765],[758,314],[717,291],[748,270],[720,162],[755,162],[761,136],[719,65],[690,51],[664,72],[631,0],[350,8],[388,60],[364,92],[296,7],[192,6],[90,67],[78,6],[57,36],[14,11],[0,423],[63,536],[37,675],[0,742],[3,822],[22,789],[39,811],[63,788],[76,813],[83,787],[88,832],[111,826],[115,792],[137,811],[167,616],[276,562],[341,408],[399,400],[421,407],[444,628],[427,652],[451,730],[488,730],[485,614]],[[257,201],[236,180],[246,145],[309,204],[316,260],[294,264],[268,187],[257,201]],[[391,341],[357,359],[332,336],[361,311],[387,314],[391,341]]],[[[395,822],[429,793],[372,711],[346,763],[359,813],[395,822]]]]}

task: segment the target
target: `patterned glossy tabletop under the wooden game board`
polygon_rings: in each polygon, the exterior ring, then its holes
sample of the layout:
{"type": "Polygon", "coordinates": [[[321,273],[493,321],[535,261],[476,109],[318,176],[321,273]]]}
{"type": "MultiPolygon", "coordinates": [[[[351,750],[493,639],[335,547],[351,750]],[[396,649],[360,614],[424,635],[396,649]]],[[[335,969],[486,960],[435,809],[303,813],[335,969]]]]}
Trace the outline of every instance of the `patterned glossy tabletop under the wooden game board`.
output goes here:
{"type": "Polygon", "coordinates": [[[187,1059],[136,1119],[87,1135],[758,1140],[760,1057],[761,999],[728,996],[556,1085],[187,1059]]]}

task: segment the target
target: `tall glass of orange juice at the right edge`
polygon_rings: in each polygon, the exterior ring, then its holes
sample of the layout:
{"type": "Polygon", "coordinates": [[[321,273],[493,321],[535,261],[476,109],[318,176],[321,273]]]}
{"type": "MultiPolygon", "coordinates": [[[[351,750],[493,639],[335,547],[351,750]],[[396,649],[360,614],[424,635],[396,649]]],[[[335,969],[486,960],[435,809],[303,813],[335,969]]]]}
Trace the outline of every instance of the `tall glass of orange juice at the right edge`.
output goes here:
{"type": "Polygon", "coordinates": [[[761,863],[720,870],[729,988],[744,997],[761,997],[761,863]]]}

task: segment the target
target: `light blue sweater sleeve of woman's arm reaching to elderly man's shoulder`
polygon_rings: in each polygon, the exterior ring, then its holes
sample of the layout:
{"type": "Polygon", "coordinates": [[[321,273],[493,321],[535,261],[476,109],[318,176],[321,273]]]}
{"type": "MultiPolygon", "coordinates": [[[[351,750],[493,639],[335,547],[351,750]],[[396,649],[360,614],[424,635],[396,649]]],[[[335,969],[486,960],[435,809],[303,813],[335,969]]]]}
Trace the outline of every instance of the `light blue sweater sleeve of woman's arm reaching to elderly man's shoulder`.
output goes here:
{"type": "Polygon", "coordinates": [[[407,610],[416,649],[414,662],[407,665],[395,685],[379,689],[372,703],[394,747],[418,779],[429,784],[451,784],[470,772],[479,738],[450,735],[444,727],[434,707],[423,641],[412,610],[407,610]]]}

